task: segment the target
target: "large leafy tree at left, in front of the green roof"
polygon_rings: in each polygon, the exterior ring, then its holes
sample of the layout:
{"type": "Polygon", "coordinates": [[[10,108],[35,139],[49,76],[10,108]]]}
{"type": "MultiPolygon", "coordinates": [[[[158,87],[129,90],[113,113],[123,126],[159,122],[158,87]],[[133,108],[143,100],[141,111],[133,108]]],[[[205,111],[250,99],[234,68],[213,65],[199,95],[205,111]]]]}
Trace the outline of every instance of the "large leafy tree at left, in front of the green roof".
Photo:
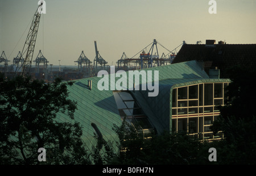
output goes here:
{"type": "Polygon", "coordinates": [[[74,119],[76,102],[68,99],[67,85],[72,82],[59,78],[47,84],[0,76],[1,164],[90,164],[80,124],[56,118],[63,113],[74,119]],[[38,161],[39,148],[46,149],[46,162],[38,161]]]}

